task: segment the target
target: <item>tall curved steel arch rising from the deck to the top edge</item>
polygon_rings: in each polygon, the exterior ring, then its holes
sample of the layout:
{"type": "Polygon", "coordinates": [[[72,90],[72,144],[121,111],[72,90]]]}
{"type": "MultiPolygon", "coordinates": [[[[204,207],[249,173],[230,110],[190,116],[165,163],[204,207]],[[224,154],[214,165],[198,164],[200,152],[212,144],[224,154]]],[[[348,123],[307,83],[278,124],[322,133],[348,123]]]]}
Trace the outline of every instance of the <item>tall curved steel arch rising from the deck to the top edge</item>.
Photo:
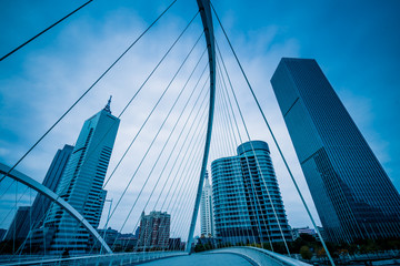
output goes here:
{"type": "Polygon", "coordinates": [[[201,191],[204,182],[206,170],[207,170],[207,162],[210,152],[210,143],[211,143],[211,132],[212,132],[212,121],[213,121],[213,111],[214,111],[214,102],[216,102],[216,48],[214,48],[214,34],[213,34],[213,25],[212,25],[212,14],[211,14],[211,7],[210,0],[197,0],[199,6],[199,11],[201,16],[201,21],[204,28],[206,33],[206,43],[207,43],[207,51],[209,55],[209,68],[210,68],[210,106],[209,106],[209,117],[208,117],[208,125],[207,125],[207,135],[206,135],[206,146],[204,146],[204,154],[201,164],[200,171],[200,178],[199,178],[199,186],[196,195],[194,208],[193,214],[190,223],[190,229],[188,235],[188,245],[187,252],[190,254],[191,243],[193,241],[193,233],[197,216],[199,213],[199,205],[201,198],[201,191]]]}

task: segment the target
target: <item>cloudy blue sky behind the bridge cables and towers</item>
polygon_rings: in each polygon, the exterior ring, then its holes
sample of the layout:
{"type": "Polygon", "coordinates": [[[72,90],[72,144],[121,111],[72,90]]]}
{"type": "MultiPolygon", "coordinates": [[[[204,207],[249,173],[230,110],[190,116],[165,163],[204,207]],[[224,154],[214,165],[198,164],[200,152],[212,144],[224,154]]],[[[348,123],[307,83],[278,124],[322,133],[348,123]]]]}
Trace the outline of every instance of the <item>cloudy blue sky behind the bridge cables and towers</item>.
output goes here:
{"type": "MultiPolygon", "coordinates": [[[[0,55],[83,2],[2,1],[0,55]]],[[[170,1],[164,0],[94,0],[63,23],[1,61],[0,162],[13,165],[169,3],[170,1]]],[[[394,186],[400,190],[399,1],[388,0],[383,3],[361,0],[286,0],[252,1],[249,4],[246,1],[217,0],[213,4],[318,223],[318,214],[270,84],[273,71],[283,57],[317,60],[394,186]]],[[[84,120],[101,110],[109,95],[113,95],[113,114],[119,114],[196,12],[196,1],[178,0],[17,170],[41,182],[56,151],[64,144],[76,142],[84,120]]],[[[216,20],[214,28],[251,139],[267,141],[271,147],[289,224],[292,227],[311,226],[216,20]]],[[[160,66],[143,89],[143,93],[138,95],[121,117],[108,176],[201,31],[201,20],[197,17],[182,41],[166,60],[166,64],[160,66]]],[[[200,40],[193,50],[193,57],[188,60],[190,68],[182,69],[182,74],[177,78],[171,92],[179,92],[203,49],[204,41],[200,40]]],[[[202,59],[196,76],[200,75],[200,69],[203,69],[206,63],[202,59]]],[[[206,78],[202,83],[204,81],[206,78]]],[[[194,84],[194,81],[190,84],[194,84]]],[[[113,182],[107,187],[108,197],[113,198],[114,204],[123,191],[123,184],[132,175],[133,166],[138,165],[141,157],[139,154],[149,146],[152,135],[162,122],[162,115],[172,104],[173,95],[160,104],[161,114],[154,116],[148,130],[138,139],[133,154],[128,156],[128,163],[116,172],[113,182]]],[[[177,119],[179,112],[174,112],[172,116],[177,119]]],[[[216,114],[216,123],[222,121],[219,117],[216,114]]],[[[167,129],[171,130],[172,126],[172,122],[167,122],[167,129]]],[[[214,131],[220,126],[221,124],[216,124],[214,131]]],[[[168,131],[163,131],[161,141],[156,144],[156,151],[150,153],[142,168],[151,167],[157,151],[160,151],[157,149],[161,147],[162,140],[167,140],[167,136],[168,131]]],[[[219,149],[218,140],[222,140],[221,137],[223,136],[214,133],[216,142],[211,144],[209,164],[217,157],[234,155],[232,145],[219,149]]],[[[201,153],[198,155],[197,162],[200,163],[201,153]]],[[[160,170],[156,172],[159,173],[160,170]]],[[[121,226],[121,218],[118,217],[126,216],[128,203],[133,202],[140,193],[147,174],[140,170],[137,175],[121,202],[122,211],[116,212],[117,218],[111,223],[112,227],[121,226]]],[[[30,191],[23,193],[22,185],[12,185],[10,191],[6,191],[11,181],[6,180],[0,184],[0,195],[4,194],[0,203],[2,228],[7,228],[11,223],[16,193],[22,195],[18,206],[29,204],[34,196],[30,191]]],[[[151,178],[149,184],[143,191],[144,196],[151,193],[156,181],[151,178]]],[[[178,206],[186,205],[184,198],[192,201],[189,196],[193,193],[194,188],[188,188],[183,200],[178,201],[178,206]]],[[[144,203],[139,202],[130,219],[136,221],[139,217],[142,206],[144,203]]],[[[101,225],[104,224],[104,215],[107,214],[103,212],[101,225]]],[[[130,223],[127,231],[133,229],[133,225],[134,222],[130,223]]],[[[176,226],[173,234],[179,235],[184,231],[180,228],[184,225],[176,226]]]]}

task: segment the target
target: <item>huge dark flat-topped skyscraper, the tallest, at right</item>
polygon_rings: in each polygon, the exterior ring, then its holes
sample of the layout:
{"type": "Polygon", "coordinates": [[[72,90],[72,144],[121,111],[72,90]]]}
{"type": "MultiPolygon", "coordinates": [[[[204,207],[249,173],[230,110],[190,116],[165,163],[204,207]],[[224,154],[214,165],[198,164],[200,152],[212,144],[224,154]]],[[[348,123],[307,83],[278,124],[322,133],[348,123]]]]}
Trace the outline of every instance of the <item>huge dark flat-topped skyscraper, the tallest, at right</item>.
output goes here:
{"type": "Polygon", "coordinates": [[[271,83],[328,238],[400,237],[400,196],[316,60],[271,83]]]}

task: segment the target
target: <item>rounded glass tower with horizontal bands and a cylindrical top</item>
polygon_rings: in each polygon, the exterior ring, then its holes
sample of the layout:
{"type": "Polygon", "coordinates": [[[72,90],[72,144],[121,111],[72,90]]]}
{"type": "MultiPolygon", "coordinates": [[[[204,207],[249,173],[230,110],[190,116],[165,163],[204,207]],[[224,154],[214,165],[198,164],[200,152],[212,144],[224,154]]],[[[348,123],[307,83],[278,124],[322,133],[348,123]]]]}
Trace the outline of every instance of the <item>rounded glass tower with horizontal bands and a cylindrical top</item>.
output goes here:
{"type": "Polygon", "coordinates": [[[291,241],[268,144],[247,142],[237,152],[211,163],[217,237],[231,244],[269,243],[282,242],[283,234],[291,241]]]}

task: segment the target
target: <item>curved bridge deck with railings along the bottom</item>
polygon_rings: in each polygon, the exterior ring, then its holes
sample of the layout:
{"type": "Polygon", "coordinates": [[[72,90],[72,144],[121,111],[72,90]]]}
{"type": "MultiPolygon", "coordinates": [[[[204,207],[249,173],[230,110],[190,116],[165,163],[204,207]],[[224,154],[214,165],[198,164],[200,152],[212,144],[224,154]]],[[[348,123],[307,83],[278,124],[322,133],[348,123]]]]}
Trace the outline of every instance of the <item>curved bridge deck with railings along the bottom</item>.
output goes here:
{"type": "Polygon", "coordinates": [[[257,247],[220,248],[212,252],[188,255],[180,252],[122,253],[107,255],[88,255],[72,258],[19,258],[19,262],[6,263],[16,265],[310,265],[297,259],[257,247]]]}

